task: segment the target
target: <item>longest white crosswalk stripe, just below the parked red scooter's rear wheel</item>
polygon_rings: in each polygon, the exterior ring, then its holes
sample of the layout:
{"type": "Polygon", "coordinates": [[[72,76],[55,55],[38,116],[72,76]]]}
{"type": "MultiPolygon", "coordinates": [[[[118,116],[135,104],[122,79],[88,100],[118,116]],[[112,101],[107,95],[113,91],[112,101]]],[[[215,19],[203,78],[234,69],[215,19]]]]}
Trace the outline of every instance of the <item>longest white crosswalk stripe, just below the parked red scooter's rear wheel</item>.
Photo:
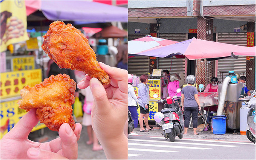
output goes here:
{"type": "Polygon", "coordinates": [[[170,142],[170,141],[159,141],[159,140],[136,140],[129,139],[129,141],[140,141],[140,142],[157,142],[157,143],[172,143],[172,144],[186,144],[186,145],[207,145],[209,146],[218,146],[218,147],[239,147],[239,145],[219,145],[219,144],[205,144],[205,143],[186,143],[186,142],[170,142]]]}

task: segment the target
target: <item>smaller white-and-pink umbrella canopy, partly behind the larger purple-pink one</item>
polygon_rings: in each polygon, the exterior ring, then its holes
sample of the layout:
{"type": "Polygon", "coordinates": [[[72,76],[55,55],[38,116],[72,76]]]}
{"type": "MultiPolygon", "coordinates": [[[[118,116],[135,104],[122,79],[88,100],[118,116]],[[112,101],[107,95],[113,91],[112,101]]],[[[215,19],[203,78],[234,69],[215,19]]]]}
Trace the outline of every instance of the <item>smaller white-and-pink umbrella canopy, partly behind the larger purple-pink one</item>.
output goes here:
{"type": "Polygon", "coordinates": [[[177,41],[171,41],[168,39],[152,37],[151,35],[147,35],[143,38],[134,39],[132,41],[128,41],[128,53],[129,54],[139,54],[142,52],[146,52],[152,49],[161,48],[167,46],[169,44],[178,43],[177,41]]]}

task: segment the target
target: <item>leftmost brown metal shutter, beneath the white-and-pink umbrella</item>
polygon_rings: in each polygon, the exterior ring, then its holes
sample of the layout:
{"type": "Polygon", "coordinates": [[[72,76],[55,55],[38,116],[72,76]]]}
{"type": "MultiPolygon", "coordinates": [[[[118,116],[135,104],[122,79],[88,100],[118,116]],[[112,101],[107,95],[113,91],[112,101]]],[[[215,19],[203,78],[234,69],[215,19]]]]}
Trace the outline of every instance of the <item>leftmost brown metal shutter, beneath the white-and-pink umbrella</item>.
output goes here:
{"type": "Polygon", "coordinates": [[[128,58],[128,73],[141,76],[149,72],[149,58],[147,56],[135,56],[128,58]]]}

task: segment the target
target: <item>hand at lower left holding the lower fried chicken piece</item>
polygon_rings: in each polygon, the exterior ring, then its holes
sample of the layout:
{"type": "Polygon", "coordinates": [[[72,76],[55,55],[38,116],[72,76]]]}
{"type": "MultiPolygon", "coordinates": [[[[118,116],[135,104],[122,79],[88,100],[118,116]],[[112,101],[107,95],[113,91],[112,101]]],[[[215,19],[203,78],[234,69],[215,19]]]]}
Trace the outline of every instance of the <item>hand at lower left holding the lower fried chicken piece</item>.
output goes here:
{"type": "Polygon", "coordinates": [[[77,141],[81,134],[81,124],[75,130],[64,123],[59,129],[59,138],[47,143],[28,140],[29,133],[38,123],[36,109],[31,109],[1,139],[1,159],[77,159],[77,141]]]}

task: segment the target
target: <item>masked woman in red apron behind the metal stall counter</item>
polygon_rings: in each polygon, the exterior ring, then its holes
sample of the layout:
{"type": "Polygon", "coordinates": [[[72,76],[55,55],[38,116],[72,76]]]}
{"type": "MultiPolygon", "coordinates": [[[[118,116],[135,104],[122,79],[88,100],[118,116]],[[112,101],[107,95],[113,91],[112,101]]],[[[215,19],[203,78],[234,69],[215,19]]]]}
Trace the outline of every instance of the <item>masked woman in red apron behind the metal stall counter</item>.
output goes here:
{"type": "MultiPolygon", "coordinates": [[[[204,89],[204,92],[216,92],[218,96],[218,78],[212,77],[211,83],[207,85],[207,87],[204,89]]],[[[207,113],[207,120],[206,120],[207,123],[209,123],[209,118],[210,118],[209,114],[211,113],[211,111],[217,112],[217,109],[218,109],[218,105],[210,107],[209,113],[207,113]]],[[[204,108],[204,110],[208,111],[208,108],[204,108]]]]}

